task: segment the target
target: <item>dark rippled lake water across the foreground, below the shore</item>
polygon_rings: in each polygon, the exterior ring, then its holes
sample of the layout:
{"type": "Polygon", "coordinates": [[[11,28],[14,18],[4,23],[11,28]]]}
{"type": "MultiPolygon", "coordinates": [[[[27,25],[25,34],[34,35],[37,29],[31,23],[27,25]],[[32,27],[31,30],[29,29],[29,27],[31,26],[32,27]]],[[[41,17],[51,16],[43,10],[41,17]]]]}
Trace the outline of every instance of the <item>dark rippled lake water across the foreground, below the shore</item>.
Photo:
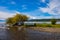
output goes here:
{"type": "Polygon", "coordinates": [[[25,32],[12,32],[5,29],[5,26],[0,26],[0,40],[60,40],[60,33],[38,32],[31,29],[25,29],[25,32]]]}

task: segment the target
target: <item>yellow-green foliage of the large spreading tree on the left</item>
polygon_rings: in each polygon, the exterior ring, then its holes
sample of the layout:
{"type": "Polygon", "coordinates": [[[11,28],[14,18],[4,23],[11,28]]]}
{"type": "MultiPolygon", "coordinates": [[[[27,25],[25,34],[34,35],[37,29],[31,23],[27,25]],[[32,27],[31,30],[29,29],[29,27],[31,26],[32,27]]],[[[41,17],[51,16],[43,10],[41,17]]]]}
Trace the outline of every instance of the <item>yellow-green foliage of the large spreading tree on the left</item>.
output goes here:
{"type": "Polygon", "coordinates": [[[14,17],[7,18],[6,23],[11,25],[17,22],[24,22],[26,20],[28,20],[28,17],[26,15],[16,14],[14,17]]]}

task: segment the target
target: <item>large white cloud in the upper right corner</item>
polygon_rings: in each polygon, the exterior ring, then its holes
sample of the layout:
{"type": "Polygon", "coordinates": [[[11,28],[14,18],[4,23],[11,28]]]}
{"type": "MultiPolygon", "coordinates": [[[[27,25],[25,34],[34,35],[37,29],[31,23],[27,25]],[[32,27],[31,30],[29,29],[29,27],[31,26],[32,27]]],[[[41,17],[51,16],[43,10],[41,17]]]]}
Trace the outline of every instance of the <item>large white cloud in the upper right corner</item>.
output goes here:
{"type": "Polygon", "coordinates": [[[48,12],[52,15],[60,15],[60,0],[50,0],[46,8],[39,7],[42,12],[48,12]]]}

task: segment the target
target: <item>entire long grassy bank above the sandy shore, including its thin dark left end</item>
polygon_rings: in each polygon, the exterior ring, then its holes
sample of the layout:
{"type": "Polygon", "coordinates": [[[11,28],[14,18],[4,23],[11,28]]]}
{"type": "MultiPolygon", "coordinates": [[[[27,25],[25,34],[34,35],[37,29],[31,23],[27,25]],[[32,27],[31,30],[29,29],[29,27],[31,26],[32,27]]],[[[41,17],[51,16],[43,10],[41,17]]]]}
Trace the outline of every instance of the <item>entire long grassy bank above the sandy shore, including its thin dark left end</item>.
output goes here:
{"type": "Polygon", "coordinates": [[[35,24],[35,25],[24,25],[25,27],[53,27],[53,28],[60,28],[60,24],[35,24]]]}

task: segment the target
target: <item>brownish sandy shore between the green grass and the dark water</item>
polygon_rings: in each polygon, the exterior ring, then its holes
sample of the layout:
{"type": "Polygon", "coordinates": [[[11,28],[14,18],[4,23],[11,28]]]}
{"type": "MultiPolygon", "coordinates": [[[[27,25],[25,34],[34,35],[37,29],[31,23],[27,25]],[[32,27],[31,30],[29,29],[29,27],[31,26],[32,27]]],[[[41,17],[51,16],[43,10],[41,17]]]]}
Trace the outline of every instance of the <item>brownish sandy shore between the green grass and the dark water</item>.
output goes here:
{"type": "Polygon", "coordinates": [[[32,30],[43,31],[43,32],[52,32],[52,33],[60,33],[60,28],[49,28],[49,27],[29,27],[32,30]]]}

